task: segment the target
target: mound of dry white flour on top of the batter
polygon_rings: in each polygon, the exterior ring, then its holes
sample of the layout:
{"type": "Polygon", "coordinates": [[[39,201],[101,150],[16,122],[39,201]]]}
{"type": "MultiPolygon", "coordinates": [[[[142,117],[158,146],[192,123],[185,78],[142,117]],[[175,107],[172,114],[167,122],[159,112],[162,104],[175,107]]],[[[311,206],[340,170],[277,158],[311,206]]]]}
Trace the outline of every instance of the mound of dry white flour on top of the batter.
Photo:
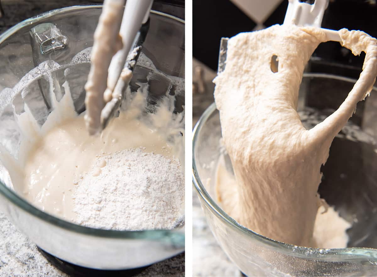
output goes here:
{"type": "Polygon", "coordinates": [[[98,155],[77,180],[80,225],[115,230],[172,229],[184,214],[184,174],[178,159],[145,148],[98,155]]]}

